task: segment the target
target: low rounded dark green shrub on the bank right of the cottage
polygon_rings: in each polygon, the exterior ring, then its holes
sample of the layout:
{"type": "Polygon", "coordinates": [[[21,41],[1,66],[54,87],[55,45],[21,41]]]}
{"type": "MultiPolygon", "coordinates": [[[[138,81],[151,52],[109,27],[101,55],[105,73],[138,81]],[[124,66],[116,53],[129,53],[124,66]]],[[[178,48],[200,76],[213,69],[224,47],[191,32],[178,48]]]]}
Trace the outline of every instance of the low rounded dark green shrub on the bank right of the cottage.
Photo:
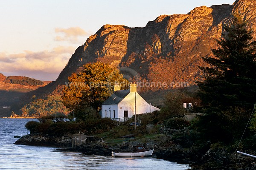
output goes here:
{"type": "Polygon", "coordinates": [[[164,120],[163,122],[166,128],[171,129],[183,129],[184,127],[188,127],[190,125],[189,121],[183,118],[171,118],[164,120]]]}

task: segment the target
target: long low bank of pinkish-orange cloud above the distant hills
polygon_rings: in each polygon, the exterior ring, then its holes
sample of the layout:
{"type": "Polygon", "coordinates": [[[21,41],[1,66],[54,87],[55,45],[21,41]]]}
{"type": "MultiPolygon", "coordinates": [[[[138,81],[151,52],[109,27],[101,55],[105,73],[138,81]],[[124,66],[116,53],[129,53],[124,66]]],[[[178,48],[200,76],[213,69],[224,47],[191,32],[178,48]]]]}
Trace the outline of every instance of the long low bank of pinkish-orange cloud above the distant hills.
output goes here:
{"type": "Polygon", "coordinates": [[[55,80],[74,51],[75,48],[71,46],[58,46],[51,51],[24,51],[9,55],[0,53],[0,73],[6,76],[24,73],[22,76],[34,75],[32,78],[55,80]]]}

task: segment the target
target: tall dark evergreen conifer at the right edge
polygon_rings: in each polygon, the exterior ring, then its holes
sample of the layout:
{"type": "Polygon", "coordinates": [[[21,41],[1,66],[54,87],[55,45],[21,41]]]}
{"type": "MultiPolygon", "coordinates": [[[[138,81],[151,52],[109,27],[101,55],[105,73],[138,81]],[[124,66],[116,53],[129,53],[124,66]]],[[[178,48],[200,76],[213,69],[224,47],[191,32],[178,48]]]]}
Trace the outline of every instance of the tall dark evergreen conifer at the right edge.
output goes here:
{"type": "Polygon", "coordinates": [[[205,81],[198,82],[199,96],[210,111],[223,111],[230,106],[253,108],[256,102],[256,42],[246,22],[235,15],[231,26],[224,26],[220,48],[214,57],[204,57],[211,67],[201,67],[205,81]]]}

